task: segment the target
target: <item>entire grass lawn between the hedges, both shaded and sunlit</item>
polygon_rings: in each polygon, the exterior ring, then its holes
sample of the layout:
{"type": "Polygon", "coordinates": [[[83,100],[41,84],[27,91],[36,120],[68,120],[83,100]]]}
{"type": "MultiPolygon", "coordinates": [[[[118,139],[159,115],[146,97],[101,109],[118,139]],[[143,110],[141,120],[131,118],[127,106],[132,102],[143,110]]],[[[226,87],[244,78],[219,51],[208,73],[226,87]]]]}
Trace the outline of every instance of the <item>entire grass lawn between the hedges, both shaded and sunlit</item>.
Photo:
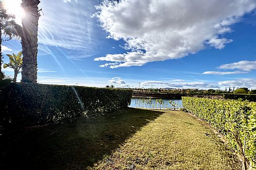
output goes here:
{"type": "MultiPolygon", "coordinates": [[[[185,112],[128,108],[0,136],[0,169],[230,170],[203,121],[185,112]]],[[[238,169],[237,163],[233,169],[238,169]]]]}

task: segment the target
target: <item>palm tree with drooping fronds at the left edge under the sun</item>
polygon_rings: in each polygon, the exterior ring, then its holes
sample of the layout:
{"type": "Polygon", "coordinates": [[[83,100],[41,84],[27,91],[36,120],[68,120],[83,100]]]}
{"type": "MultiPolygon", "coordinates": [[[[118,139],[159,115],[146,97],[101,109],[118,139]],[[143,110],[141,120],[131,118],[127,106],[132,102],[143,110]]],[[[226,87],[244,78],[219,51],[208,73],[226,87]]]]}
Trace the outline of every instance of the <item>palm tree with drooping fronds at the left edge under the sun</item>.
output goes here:
{"type": "Polygon", "coordinates": [[[0,79],[3,78],[1,71],[2,65],[2,41],[8,41],[12,38],[19,39],[21,36],[21,26],[14,21],[15,17],[6,12],[0,1],[0,79]],[[6,39],[2,38],[2,34],[6,36],[6,39]]]}

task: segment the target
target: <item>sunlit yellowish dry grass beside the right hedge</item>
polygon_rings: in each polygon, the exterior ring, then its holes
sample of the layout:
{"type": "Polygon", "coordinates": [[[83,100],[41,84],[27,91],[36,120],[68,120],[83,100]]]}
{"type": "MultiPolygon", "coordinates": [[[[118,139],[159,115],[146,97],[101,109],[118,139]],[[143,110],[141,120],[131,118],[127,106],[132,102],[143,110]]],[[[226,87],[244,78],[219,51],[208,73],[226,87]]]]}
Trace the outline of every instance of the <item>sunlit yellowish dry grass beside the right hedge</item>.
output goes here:
{"type": "MultiPolygon", "coordinates": [[[[239,165],[226,156],[224,144],[203,121],[181,111],[162,112],[91,169],[239,169],[239,165]]],[[[228,151],[227,154],[232,155],[228,151]]]]}

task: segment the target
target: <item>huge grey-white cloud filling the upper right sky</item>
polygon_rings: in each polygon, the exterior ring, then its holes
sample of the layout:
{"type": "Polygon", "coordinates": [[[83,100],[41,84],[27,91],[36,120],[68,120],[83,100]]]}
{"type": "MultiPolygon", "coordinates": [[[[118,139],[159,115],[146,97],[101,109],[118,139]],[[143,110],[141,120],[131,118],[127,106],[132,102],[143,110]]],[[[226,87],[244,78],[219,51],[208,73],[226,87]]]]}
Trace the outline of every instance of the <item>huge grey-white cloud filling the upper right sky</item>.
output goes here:
{"type": "Polygon", "coordinates": [[[142,66],[194,54],[207,46],[223,49],[230,26],[256,8],[255,0],[104,0],[96,16],[115,40],[127,42],[124,54],[95,61],[100,67],[142,66]]]}

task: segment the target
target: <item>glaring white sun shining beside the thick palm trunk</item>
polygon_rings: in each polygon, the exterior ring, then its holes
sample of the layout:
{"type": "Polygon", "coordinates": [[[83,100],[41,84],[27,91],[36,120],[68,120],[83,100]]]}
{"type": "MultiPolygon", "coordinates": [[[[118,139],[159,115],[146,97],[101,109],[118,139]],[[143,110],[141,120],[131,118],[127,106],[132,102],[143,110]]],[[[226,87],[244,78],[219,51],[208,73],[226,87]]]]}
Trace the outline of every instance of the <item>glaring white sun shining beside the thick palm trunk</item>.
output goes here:
{"type": "Polygon", "coordinates": [[[25,11],[21,8],[21,0],[3,0],[3,5],[9,14],[15,16],[17,24],[21,25],[21,19],[25,17],[25,11]]]}

